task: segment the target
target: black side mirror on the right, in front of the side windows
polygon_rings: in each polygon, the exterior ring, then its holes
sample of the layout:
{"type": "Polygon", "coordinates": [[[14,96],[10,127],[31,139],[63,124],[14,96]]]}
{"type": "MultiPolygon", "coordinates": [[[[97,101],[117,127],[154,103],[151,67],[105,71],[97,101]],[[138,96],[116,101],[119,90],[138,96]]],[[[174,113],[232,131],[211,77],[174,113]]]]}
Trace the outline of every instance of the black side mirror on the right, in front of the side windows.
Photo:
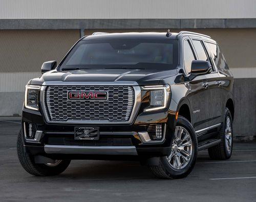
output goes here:
{"type": "Polygon", "coordinates": [[[191,63],[191,75],[202,75],[211,72],[211,64],[205,60],[193,60],[191,63]]]}

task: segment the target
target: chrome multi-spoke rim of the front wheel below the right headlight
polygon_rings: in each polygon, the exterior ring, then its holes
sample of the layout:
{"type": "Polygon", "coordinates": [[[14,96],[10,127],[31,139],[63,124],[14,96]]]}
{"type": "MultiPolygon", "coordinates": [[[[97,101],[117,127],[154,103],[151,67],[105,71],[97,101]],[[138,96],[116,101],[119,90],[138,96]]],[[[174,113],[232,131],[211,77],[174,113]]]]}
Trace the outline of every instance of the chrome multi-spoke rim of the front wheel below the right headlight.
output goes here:
{"type": "Polygon", "coordinates": [[[172,168],[180,170],[189,163],[192,151],[193,143],[189,132],[182,126],[176,126],[172,149],[170,155],[166,156],[168,163],[172,168]]]}

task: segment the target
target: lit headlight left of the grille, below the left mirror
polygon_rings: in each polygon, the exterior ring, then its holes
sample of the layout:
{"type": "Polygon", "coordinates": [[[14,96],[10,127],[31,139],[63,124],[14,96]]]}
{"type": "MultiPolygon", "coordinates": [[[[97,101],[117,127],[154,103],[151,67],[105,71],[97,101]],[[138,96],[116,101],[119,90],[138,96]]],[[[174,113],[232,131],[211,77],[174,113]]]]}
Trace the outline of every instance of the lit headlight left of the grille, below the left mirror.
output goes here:
{"type": "Polygon", "coordinates": [[[39,85],[26,85],[25,108],[38,111],[40,88],[39,85]]]}

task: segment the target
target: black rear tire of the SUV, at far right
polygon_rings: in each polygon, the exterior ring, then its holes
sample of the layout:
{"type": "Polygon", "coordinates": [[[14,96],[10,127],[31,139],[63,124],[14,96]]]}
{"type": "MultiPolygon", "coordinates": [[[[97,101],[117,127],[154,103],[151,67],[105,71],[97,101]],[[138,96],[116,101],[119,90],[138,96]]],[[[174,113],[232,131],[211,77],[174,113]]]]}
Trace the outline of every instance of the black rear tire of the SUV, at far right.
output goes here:
{"type": "Polygon", "coordinates": [[[225,120],[219,132],[219,139],[221,139],[221,143],[219,145],[208,148],[209,156],[213,160],[229,159],[232,154],[232,148],[233,148],[233,125],[232,125],[232,116],[227,107],[225,109],[225,120]],[[230,148],[228,148],[227,146],[228,143],[226,142],[227,119],[229,119],[230,121],[230,128],[231,128],[231,131],[229,131],[229,133],[231,134],[231,137],[229,136],[229,139],[231,138],[230,139],[231,143],[229,143],[230,148]]]}

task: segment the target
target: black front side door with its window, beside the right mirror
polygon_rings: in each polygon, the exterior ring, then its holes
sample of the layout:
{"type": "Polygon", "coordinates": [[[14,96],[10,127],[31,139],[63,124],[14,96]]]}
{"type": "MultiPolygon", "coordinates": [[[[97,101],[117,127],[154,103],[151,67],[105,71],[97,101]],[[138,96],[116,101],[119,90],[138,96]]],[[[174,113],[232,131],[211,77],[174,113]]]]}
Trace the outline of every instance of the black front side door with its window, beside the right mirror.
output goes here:
{"type": "MultiPolygon", "coordinates": [[[[183,66],[187,75],[191,72],[191,62],[196,59],[197,55],[191,44],[191,40],[184,40],[183,66]]],[[[191,107],[192,124],[196,131],[208,127],[208,94],[207,88],[203,86],[203,83],[206,82],[205,75],[196,76],[187,82],[190,86],[187,98],[191,107]]]]}

